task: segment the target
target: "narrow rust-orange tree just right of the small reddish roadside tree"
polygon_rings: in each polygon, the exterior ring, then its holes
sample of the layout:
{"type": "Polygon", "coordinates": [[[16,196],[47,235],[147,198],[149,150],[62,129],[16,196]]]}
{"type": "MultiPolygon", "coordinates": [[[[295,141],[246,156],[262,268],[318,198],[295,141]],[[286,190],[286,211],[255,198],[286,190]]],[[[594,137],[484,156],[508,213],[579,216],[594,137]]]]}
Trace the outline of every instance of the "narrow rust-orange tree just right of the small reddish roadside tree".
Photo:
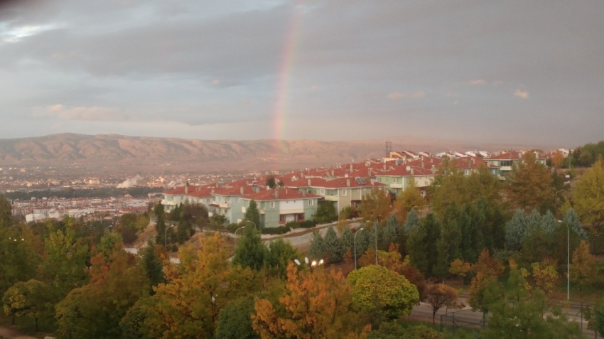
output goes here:
{"type": "Polygon", "coordinates": [[[470,284],[468,303],[475,310],[487,311],[487,298],[485,290],[490,281],[495,281],[504,271],[504,266],[497,259],[491,257],[489,250],[484,249],[478,257],[478,262],[472,265],[475,277],[470,284]]]}

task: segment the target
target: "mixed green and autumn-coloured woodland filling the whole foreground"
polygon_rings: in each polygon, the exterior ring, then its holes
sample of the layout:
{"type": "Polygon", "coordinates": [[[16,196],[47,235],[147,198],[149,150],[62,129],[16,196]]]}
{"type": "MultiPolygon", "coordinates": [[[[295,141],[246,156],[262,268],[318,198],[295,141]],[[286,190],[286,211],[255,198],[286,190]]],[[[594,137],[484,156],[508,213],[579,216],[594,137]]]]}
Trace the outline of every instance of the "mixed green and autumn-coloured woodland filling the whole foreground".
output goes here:
{"type": "Polygon", "coordinates": [[[201,206],[27,225],[1,197],[1,325],[41,338],[586,338],[563,309],[590,301],[588,328],[604,335],[601,157],[570,173],[529,152],[504,182],[454,161],[437,173],[426,198],[372,190],[358,227],[340,213],[308,251],[246,220],[238,238],[196,235],[215,222],[201,206]],[[149,220],[156,237],[126,252],[149,220]],[[414,321],[419,303],[433,316],[468,306],[486,325],[414,321]]]}

